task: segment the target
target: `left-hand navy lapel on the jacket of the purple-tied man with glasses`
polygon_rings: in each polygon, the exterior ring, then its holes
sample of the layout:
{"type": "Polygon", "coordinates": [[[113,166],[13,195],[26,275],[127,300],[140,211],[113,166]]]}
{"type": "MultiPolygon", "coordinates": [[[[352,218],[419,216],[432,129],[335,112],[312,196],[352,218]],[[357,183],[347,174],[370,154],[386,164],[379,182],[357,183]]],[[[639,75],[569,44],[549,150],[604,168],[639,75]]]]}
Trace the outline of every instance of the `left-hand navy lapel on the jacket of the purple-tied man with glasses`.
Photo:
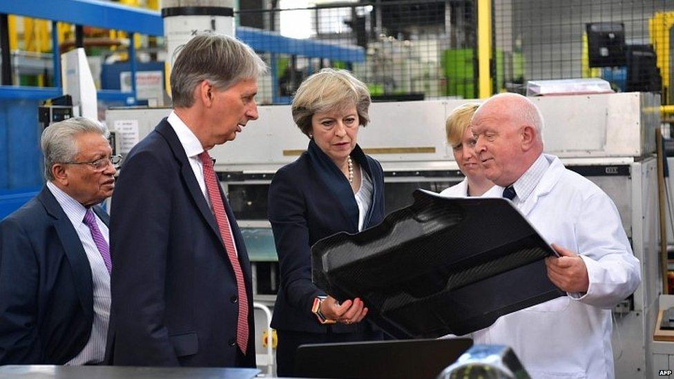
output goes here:
{"type": "Polygon", "coordinates": [[[70,269],[73,271],[74,280],[77,284],[75,287],[77,288],[77,295],[79,296],[82,308],[86,315],[93,317],[91,267],[84,252],[84,247],[82,247],[82,242],[79,240],[79,235],[73,229],[73,223],[70,222],[63,208],[61,208],[61,205],[47,186],[42,188],[38,196],[47,213],[54,219],[54,229],[56,229],[56,233],[59,236],[68,263],[70,263],[70,269]]]}

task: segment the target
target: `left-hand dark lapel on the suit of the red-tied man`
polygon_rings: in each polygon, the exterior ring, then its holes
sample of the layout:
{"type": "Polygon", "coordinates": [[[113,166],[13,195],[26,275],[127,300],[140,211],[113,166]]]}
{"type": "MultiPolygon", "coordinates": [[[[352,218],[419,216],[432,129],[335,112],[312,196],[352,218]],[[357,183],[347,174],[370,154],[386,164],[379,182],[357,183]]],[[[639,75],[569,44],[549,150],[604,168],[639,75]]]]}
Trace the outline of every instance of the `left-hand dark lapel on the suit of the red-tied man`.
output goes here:
{"type": "Polygon", "coordinates": [[[177,159],[178,162],[180,162],[180,175],[182,175],[182,178],[184,179],[185,185],[187,186],[192,200],[194,200],[194,203],[197,204],[197,208],[199,209],[202,217],[204,217],[206,223],[209,224],[209,227],[215,234],[215,237],[217,237],[218,240],[222,243],[222,237],[220,237],[218,224],[215,223],[215,216],[213,216],[211,208],[209,208],[209,204],[206,202],[206,198],[199,187],[197,178],[194,176],[194,171],[192,171],[192,166],[190,166],[189,162],[187,161],[187,155],[185,154],[185,149],[182,147],[182,144],[180,144],[180,139],[178,139],[178,136],[175,134],[171,124],[168,124],[166,119],[162,120],[162,122],[157,125],[156,130],[158,133],[164,136],[164,139],[166,139],[166,142],[168,142],[168,146],[171,147],[171,150],[173,151],[173,156],[177,159]]]}

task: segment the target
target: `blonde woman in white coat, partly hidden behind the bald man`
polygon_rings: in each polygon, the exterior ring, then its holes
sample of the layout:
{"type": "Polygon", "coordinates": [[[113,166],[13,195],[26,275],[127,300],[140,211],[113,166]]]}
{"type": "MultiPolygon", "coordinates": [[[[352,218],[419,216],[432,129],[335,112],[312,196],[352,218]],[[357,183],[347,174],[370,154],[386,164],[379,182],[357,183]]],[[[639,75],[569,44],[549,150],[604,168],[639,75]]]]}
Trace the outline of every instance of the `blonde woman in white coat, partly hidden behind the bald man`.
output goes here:
{"type": "Polygon", "coordinates": [[[494,183],[484,176],[482,163],[475,152],[475,138],[470,130],[470,119],[480,106],[479,103],[466,103],[452,110],[445,122],[447,142],[452,146],[454,159],[465,179],[459,184],[446,188],[440,195],[447,197],[481,196],[494,183]]]}

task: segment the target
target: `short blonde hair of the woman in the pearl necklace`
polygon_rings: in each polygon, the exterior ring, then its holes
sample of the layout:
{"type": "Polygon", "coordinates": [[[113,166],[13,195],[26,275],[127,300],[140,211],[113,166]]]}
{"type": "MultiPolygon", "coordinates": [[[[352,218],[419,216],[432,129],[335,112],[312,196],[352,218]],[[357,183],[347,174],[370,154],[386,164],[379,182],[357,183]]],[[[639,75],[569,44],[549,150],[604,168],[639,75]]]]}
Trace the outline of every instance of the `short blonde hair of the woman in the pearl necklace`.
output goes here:
{"type": "Polygon", "coordinates": [[[372,100],[367,86],[347,70],[323,68],[302,81],[291,110],[298,128],[309,135],[311,117],[316,113],[328,112],[344,106],[355,105],[360,125],[369,122],[367,110],[372,100]]]}

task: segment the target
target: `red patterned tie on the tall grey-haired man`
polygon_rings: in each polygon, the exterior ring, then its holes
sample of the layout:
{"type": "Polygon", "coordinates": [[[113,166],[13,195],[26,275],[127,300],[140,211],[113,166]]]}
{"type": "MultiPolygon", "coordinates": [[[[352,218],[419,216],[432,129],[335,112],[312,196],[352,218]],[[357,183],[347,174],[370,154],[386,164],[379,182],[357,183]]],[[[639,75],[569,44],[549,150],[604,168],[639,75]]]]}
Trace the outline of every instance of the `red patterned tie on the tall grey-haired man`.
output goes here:
{"type": "Polygon", "coordinates": [[[246,284],[243,280],[243,272],[239,264],[239,258],[236,254],[236,246],[234,245],[234,238],[229,227],[229,219],[227,213],[224,211],[224,204],[220,196],[220,186],[215,178],[215,171],[213,171],[213,161],[211,155],[204,151],[199,155],[202,164],[204,164],[204,182],[206,182],[206,190],[209,191],[209,198],[211,205],[213,205],[213,215],[215,215],[215,222],[218,223],[220,229],[220,237],[224,242],[224,249],[229,256],[229,262],[234,269],[234,276],[236,277],[236,289],[239,297],[239,315],[236,322],[236,344],[239,345],[242,353],[246,355],[248,347],[248,296],[246,295],[246,284]]]}

